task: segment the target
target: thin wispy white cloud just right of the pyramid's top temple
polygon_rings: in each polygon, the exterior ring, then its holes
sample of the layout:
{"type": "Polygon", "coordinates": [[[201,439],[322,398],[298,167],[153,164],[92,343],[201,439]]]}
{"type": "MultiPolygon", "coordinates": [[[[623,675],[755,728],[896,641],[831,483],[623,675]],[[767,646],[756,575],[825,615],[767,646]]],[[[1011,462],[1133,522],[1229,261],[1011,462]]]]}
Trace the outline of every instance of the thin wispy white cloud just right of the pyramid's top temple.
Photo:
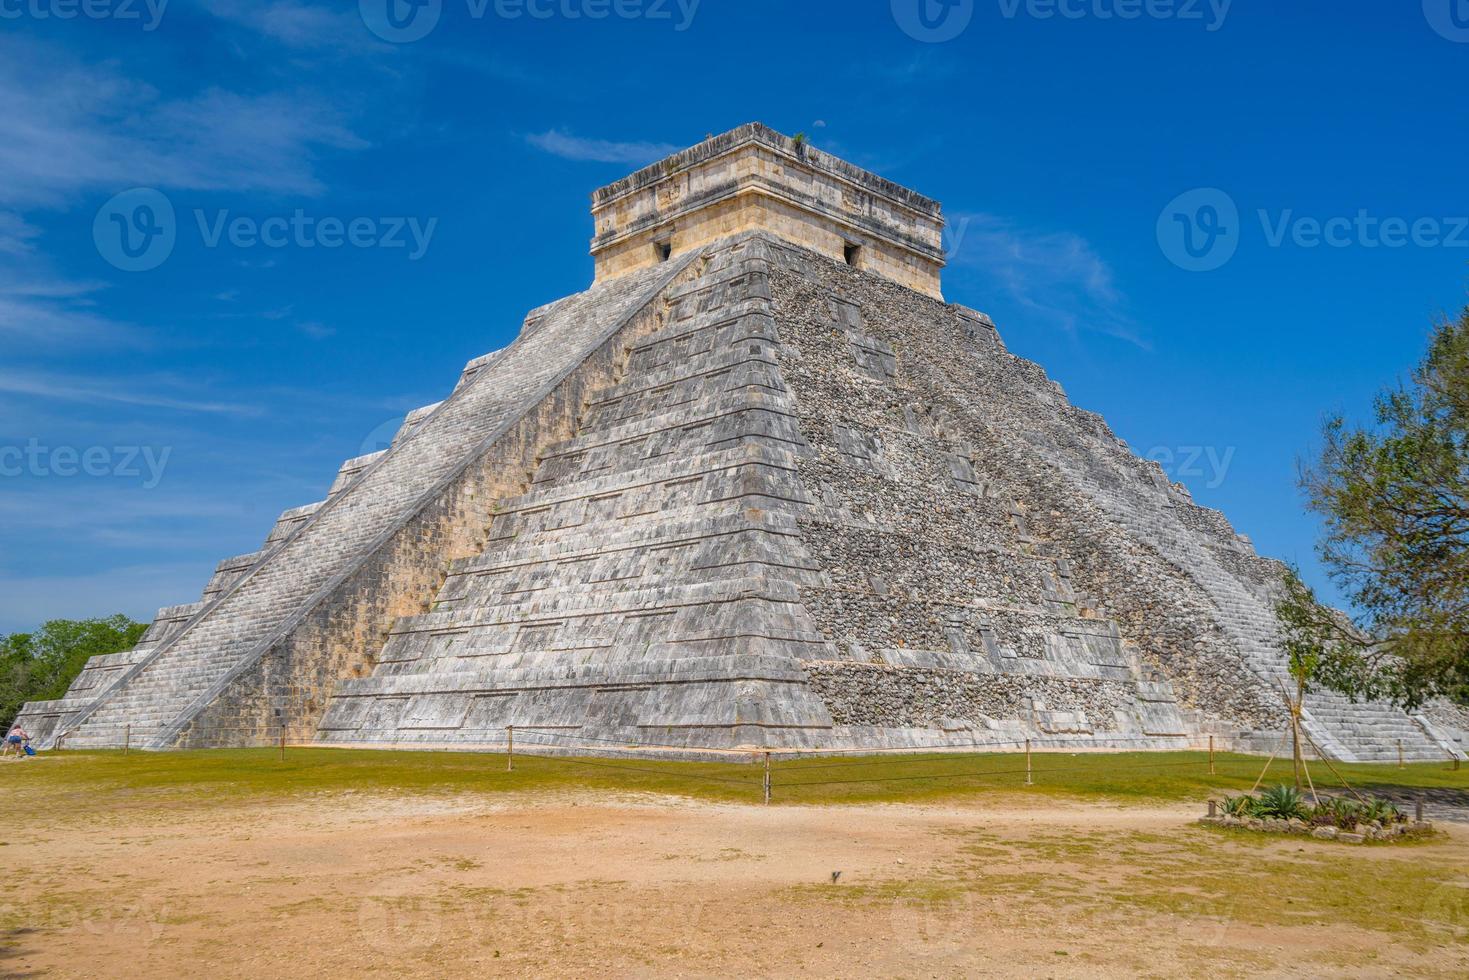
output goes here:
{"type": "Polygon", "coordinates": [[[1144,350],[1127,313],[1112,267],[1081,235],[1037,232],[984,213],[948,216],[945,250],[950,269],[974,275],[981,288],[1012,301],[1069,334],[1099,332],[1144,350]]]}

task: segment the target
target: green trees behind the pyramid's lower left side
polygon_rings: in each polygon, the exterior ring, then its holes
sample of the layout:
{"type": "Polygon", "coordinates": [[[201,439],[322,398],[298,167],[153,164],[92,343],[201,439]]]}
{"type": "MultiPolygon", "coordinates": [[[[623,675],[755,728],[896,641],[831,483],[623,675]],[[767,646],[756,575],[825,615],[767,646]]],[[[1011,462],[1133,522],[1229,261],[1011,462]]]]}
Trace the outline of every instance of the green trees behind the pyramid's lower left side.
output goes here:
{"type": "Polygon", "coordinates": [[[132,649],[147,623],[126,616],[95,620],[51,620],[35,633],[0,641],[0,720],[9,726],[26,701],[66,693],[91,657],[132,649]]]}

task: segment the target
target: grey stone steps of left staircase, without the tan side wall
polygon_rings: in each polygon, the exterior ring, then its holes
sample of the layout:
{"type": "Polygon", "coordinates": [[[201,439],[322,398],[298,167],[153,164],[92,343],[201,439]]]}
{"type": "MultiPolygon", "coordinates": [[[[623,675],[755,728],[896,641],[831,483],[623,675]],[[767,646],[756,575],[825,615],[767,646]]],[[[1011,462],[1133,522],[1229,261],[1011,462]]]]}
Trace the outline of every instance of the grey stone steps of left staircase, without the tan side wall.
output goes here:
{"type": "MultiPolygon", "coordinates": [[[[497,370],[464,381],[391,450],[338,483],[331,500],[284,514],[273,550],[248,574],[131,667],[110,698],[84,711],[75,723],[78,743],[113,739],[119,724],[165,730],[181,724],[185,711],[259,657],[261,644],[289,617],[308,611],[323,588],[361,567],[385,532],[392,533],[427,505],[444,480],[466,472],[488,438],[535,408],[542,394],[599,350],[693,259],[690,254],[546,307],[542,317],[555,322],[554,329],[527,328],[497,357],[497,370]]],[[[685,289],[676,303],[692,316],[701,295],[701,289],[685,289]]]]}

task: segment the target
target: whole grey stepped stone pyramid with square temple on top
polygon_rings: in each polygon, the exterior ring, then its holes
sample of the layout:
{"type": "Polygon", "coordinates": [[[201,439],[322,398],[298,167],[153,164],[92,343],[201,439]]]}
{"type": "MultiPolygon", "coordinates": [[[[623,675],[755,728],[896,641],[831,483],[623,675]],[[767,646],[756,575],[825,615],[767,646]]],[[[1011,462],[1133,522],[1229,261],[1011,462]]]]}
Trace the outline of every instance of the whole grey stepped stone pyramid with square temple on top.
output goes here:
{"type": "MultiPolygon", "coordinates": [[[[746,125],[592,212],[586,292],[22,723],[78,748],[1278,742],[1279,566],[943,301],[937,203],[746,125]]],[[[1469,738],[1447,705],[1307,707],[1341,760],[1469,738]]]]}

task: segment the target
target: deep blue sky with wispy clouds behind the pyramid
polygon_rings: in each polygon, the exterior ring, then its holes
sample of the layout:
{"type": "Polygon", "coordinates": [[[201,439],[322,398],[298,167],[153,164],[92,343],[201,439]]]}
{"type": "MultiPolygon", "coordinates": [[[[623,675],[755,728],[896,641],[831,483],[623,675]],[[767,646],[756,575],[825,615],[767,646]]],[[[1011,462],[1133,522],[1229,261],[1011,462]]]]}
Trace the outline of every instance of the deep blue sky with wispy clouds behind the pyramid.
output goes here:
{"type": "Polygon", "coordinates": [[[942,200],[948,298],[1319,585],[1296,460],[1466,300],[1469,0],[90,1],[0,0],[0,630],[197,598],[754,119],[942,200]]]}

